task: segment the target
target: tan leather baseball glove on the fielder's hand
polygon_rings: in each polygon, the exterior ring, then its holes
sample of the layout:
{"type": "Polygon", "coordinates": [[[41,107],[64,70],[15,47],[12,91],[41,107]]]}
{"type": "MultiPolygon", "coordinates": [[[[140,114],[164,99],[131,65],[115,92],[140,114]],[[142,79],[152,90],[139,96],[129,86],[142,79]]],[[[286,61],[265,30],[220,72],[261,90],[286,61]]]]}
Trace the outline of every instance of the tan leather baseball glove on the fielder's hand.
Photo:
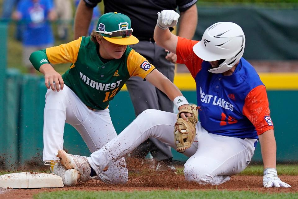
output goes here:
{"type": "Polygon", "coordinates": [[[182,153],[188,149],[196,136],[196,123],[198,122],[198,107],[195,104],[183,107],[177,115],[177,122],[174,127],[174,139],[177,151],[182,153]],[[185,121],[180,117],[180,113],[191,113],[192,117],[187,117],[185,121]]]}

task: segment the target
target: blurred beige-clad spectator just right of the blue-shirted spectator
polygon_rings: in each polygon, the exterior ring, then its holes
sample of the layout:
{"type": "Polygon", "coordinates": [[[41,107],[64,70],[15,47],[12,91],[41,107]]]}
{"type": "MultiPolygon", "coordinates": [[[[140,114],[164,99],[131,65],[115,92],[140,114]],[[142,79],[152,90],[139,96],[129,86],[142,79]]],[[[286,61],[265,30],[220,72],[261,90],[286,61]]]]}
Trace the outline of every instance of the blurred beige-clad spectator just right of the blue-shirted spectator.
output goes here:
{"type": "Polygon", "coordinates": [[[55,10],[57,13],[58,26],[57,33],[61,40],[68,40],[68,28],[72,20],[72,2],[71,0],[55,0],[55,10]]]}

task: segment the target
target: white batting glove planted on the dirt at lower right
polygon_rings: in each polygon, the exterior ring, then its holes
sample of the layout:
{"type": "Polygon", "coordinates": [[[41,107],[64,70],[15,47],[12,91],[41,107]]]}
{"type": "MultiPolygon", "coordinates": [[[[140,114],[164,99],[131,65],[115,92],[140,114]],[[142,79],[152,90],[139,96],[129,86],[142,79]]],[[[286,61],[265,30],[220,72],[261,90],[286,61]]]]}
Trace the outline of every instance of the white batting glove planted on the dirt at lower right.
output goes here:
{"type": "Polygon", "coordinates": [[[282,182],[277,177],[277,171],[273,168],[267,168],[264,170],[263,185],[266,188],[269,187],[291,187],[289,184],[282,182]]]}

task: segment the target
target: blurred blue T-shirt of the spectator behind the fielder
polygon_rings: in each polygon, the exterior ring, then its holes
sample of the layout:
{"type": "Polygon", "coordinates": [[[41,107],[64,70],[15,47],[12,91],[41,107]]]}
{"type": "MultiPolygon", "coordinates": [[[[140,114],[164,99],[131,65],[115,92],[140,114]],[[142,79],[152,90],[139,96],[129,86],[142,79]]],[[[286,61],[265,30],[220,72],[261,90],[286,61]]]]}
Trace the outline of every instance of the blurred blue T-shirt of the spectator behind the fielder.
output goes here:
{"type": "Polygon", "coordinates": [[[47,21],[48,12],[52,10],[52,0],[21,0],[17,11],[21,13],[21,20],[25,23],[23,44],[25,46],[41,46],[54,43],[54,36],[50,23],[47,21]]]}

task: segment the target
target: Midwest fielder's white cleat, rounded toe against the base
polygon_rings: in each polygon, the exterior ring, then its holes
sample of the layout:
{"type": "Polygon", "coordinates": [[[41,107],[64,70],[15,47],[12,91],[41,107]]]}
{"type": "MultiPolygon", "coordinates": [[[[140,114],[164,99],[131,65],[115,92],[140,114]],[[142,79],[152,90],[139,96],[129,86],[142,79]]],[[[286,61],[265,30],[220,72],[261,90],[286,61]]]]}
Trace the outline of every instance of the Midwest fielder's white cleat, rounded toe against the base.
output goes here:
{"type": "MultiPolygon", "coordinates": [[[[79,183],[80,174],[75,169],[66,170],[62,164],[58,161],[47,161],[51,163],[51,171],[53,174],[60,176],[62,178],[62,182],[66,186],[75,186],[79,183]],[[53,166],[53,168],[52,168],[53,166]]],[[[47,162],[45,162],[45,165],[47,162]]]]}

